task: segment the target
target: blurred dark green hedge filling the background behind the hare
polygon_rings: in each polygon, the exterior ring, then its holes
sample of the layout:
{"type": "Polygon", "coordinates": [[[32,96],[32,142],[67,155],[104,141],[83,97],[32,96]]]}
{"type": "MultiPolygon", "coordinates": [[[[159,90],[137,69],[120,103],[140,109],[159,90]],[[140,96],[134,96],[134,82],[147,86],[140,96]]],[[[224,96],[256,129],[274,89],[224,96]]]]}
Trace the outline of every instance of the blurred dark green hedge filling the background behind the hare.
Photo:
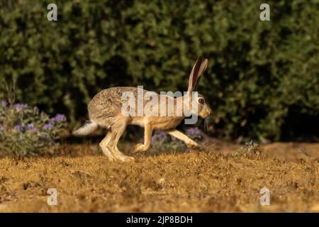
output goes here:
{"type": "Polygon", "coordinates": [[[318,18],[317,0],[1,0],[0,92],[16,84],[16,101],[74,127],[101,89],[186,90],[203,55],[211,136],[315,141],[318,18]],[[259,19],[263,3],[271,21],[259,19]]]}

